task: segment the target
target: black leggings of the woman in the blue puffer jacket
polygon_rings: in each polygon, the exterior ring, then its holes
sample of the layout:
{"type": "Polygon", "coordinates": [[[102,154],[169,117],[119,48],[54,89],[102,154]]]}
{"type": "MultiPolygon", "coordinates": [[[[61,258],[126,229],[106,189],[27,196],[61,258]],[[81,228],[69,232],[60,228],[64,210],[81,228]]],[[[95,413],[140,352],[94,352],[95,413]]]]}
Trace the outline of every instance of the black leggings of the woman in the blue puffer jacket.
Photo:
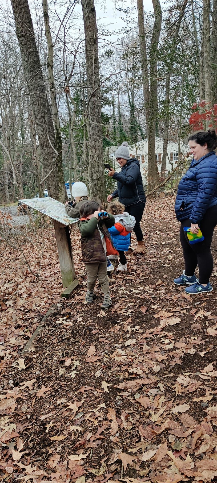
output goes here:
{"type": "Polygon", "coordinates": [[[214,227],[217,225],[217,205],[208,208],[200,222],[204,240],[190,245],[183,227],[190,227],[190,219],[183,220],[180,227],[180,241],[185,259],[185,274],[192,276],[198,265],[200,284],[208,284],[213,271],[213,256],[210,251],[214,227]]]}

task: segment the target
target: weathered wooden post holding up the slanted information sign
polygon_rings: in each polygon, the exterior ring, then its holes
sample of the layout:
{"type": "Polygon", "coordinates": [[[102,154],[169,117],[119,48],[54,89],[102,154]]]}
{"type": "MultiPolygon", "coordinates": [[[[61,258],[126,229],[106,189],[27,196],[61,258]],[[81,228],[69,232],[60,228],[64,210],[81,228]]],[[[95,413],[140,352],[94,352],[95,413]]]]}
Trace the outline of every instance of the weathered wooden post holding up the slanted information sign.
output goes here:
{"type": "Polygon", "coordinates": [[[75,280],[75,267],[72,256],[69,227],[62,225],[62,223],[59,223],[58,221],[53,221],[63,287],[67,287],[62,293],[62,297],[68,297],[73,288],[78,285],[78,281],[75,280]]]}

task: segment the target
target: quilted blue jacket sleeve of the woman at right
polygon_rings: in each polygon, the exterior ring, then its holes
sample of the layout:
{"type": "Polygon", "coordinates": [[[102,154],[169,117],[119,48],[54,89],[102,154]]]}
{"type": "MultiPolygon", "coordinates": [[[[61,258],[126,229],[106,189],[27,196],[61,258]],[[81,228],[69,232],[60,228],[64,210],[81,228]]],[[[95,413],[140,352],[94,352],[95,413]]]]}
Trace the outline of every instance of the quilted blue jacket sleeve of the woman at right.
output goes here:
{"type": "Polygon", "coordinates": [[[203,164],[201,167],[199,166],[195,177],[198,193],[190,214],[190,222],[193,224],[200,223],[209,208],[217,187],[217,166],[203,164]]]}

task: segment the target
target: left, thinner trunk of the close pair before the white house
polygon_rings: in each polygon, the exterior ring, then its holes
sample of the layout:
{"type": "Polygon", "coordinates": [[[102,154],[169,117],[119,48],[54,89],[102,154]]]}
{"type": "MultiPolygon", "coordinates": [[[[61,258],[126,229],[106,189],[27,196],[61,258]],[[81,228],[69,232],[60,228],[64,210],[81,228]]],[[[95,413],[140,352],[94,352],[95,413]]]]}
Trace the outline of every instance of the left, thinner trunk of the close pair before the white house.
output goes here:
{"type": "Polygon", "coordinates": [[[146,116],[146,135],[149,136],[149,71],[146,49],[143,0],[137,0],[139,48],[142,69],[142,89],[146,116]]]}

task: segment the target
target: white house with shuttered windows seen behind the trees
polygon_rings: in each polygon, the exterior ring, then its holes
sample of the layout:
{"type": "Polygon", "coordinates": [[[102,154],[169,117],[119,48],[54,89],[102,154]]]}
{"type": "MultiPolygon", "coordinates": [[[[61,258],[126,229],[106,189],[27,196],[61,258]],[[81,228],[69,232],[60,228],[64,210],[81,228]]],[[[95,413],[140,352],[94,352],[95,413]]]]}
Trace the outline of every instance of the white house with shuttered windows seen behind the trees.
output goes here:
{"type": "MultiPolygon", "coordinates": [[[[115,151],[117,146],[108,146],[106,148],[106,154],[108,158],[115,161],[115,151]]],[[[130,155],[137,157],[140,162],[140,170],[142,173],[143,181],[146,183],[147,180],[147,170],[148,170],[148,140],[136,142],[129,146],[130,155]],[[137,155],[136,155],[137,150],[137,155]]],[[[187,144],[180,145],[180,159],[189,152],[189,146],[187,144]]],[[[161,164],[163,156],[163,138],[155,137],[155,153],[158,162],[158,170],[161,173],[161,164]]],[[[166,172],[172,171],[175,167],[175,162],[178,160],[178,143],[174,141],[168,141],[167,145],[167,159],[166,159],[166,172]]],[[[117,163],[118,165],[118,163],[117,163]]]]}

